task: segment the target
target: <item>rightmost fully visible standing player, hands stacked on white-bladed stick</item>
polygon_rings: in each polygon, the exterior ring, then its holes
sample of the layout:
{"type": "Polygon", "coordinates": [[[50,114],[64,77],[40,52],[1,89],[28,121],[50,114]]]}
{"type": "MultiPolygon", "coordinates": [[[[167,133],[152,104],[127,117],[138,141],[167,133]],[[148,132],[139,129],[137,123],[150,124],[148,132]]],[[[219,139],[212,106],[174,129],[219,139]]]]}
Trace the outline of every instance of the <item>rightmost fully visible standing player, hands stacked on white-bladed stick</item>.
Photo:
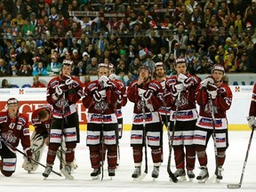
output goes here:
{"type": "Polygon", "coordinates": [[[222,165],[225,162],[228,148],[228,120],[226,111],[232,103],[232,92],[227,84],[222,82],[225,69],[221,65],[212,66],[212,76],[206,77],[197,87],[196,101],[200,106],[196,122],[194,145],[201,172],[196,177],[198,182],[209,178],[207,169],[207,143],[212,136],[214,148],[217,150],[216,181],[222,180],[222,165]]]}

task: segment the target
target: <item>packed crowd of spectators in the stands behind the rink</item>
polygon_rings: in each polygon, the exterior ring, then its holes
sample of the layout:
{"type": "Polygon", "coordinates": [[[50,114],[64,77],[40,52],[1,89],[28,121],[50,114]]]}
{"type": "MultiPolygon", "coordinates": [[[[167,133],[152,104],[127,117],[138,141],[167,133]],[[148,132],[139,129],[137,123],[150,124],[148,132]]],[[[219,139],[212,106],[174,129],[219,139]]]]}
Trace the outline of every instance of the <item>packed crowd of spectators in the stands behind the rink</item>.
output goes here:
{"type": "MultiPolygon", "coordinates": [[[[74,76],[107,63],[129,82],[184,57],[190,74],[256,72],[256,0],[0,0],[0,76],[74,76]]],[[[125,82],[126,83],[126,82],[125,82]]],[[[126,84],[127,85],[127,84],[126,84]]]]}

